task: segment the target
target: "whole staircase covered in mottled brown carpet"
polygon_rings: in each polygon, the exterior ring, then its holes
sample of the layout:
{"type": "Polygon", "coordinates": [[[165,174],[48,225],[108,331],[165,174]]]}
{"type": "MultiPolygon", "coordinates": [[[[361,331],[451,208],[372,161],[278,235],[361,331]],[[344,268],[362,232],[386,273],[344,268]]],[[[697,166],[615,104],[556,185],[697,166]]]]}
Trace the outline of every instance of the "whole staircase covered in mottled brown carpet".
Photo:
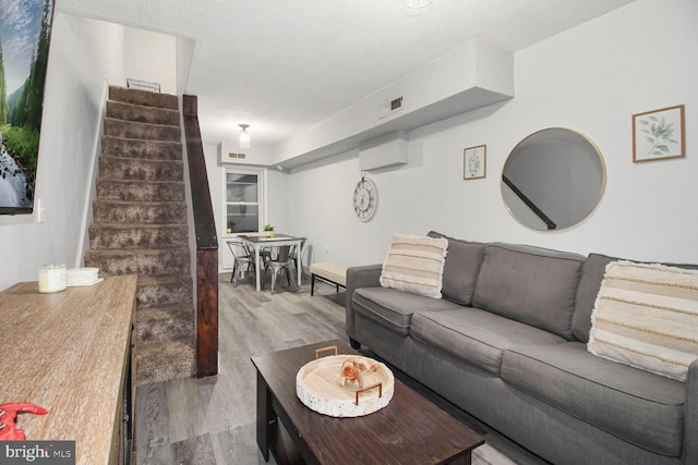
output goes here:
{"type": "Polygon", "coordinates": [[[111,86],[85,266],[139,274],[136,384],[194,374],[178,98],[111,86]]]}

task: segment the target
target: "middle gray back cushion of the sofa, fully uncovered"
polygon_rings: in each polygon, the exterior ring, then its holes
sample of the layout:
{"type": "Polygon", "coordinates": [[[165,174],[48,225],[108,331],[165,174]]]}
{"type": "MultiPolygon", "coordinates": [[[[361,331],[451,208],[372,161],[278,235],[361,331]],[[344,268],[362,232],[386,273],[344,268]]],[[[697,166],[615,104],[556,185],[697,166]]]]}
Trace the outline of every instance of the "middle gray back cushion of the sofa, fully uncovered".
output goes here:
{"type": "Polygon", "coordinates": [[[493,243],[484,249],[473,306],[571,340],[575,295],[585,257],[493,243]]]}

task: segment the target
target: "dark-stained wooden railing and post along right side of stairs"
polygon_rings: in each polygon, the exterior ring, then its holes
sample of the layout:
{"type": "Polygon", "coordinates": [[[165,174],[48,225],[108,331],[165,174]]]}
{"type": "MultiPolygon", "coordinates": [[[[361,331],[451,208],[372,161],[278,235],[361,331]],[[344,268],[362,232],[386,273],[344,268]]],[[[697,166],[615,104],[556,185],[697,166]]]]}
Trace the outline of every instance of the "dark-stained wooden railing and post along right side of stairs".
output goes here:
{"type": "Polygon", "coordinates": [[[196,96],[182,96],[196,235],[196,377],[218,372],[218,238],[210,203],[196,96]]]}

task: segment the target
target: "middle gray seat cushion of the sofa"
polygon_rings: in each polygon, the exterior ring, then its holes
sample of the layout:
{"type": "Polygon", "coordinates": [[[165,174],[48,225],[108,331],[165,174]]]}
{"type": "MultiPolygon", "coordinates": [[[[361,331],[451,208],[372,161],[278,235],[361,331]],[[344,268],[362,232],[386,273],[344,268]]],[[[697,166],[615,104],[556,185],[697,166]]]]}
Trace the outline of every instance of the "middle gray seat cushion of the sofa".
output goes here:
{"type": "Polygon", "coordinates": [[[496,376],[508,347],[565,342],[547,331],[472,307],[416,314],[410,335],[496,376]]]}

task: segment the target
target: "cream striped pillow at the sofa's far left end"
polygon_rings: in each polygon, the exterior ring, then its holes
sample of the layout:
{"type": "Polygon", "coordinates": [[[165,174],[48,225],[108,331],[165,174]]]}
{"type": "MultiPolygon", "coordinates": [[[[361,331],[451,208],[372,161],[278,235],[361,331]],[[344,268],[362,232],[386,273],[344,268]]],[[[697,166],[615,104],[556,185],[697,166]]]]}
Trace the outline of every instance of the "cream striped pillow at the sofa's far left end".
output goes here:
{"type": "Polygon", "coordinates": [[[441,298],[448,240],[393,234],[383,262],[381,285],[441,298]]]}

